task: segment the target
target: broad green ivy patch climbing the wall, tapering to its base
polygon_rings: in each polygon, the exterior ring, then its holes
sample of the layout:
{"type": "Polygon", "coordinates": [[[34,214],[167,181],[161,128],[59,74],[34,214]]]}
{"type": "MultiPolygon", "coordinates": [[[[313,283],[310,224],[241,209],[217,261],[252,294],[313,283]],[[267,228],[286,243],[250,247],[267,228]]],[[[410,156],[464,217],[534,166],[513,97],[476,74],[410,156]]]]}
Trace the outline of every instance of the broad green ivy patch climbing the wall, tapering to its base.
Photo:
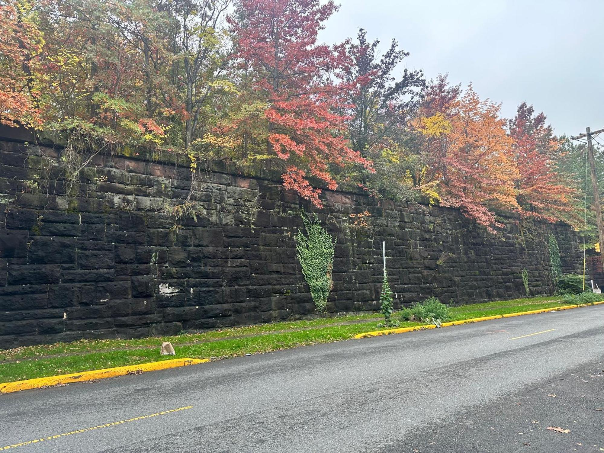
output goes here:
{"type": "Polygon", "coordinates": [[[301,230],[295,235],[298,262],[308,283],[316,311],[324,313],[327,309],[327,297],[333,288],[333,254],[336,240],[321,226],[316,214],[303,214],[302,220],[306,235],[301,230]]]}

